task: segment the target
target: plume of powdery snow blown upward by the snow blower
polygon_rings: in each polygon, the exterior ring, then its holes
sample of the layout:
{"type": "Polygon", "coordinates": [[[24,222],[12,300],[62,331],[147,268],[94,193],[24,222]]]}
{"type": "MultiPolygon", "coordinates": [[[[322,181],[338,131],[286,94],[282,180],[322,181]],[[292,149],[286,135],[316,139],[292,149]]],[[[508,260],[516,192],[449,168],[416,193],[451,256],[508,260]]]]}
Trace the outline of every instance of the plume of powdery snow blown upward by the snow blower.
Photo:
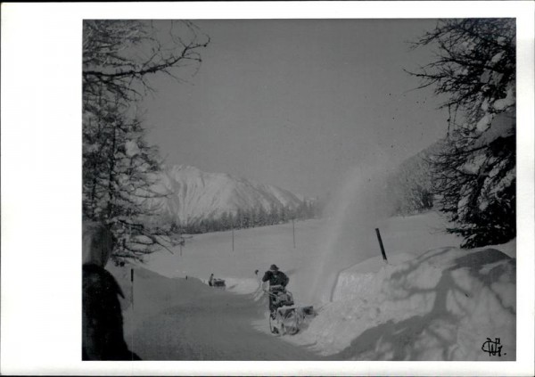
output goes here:
{"type": "Polygon", "coordinates": [[[323,237],[324,250],[314,264],[316,302],[332,299],[338,273],[380,253],[375,227],[388,217],[385,185],[386,165],[354,168],[346,176],[340,190],[327,204],[328,225],[323,237]]]}

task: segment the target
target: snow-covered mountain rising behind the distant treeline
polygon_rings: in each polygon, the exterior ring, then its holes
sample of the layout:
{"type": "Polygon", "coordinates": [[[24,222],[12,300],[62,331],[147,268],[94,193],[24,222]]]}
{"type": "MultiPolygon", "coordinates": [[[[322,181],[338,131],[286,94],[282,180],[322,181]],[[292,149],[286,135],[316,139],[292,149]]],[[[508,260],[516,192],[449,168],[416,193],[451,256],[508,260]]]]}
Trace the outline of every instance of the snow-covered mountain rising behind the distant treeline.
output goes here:
{"type": "Polygon", "coordinates": [[[307,200],[269,184],[228,174],[206,173],[184,165],[164,169],[158,192],[169,195],[152,205],[157,205],[163,215],[181,224],[260,206],[267,211],[283,206],[294,209],[307,200]]]}

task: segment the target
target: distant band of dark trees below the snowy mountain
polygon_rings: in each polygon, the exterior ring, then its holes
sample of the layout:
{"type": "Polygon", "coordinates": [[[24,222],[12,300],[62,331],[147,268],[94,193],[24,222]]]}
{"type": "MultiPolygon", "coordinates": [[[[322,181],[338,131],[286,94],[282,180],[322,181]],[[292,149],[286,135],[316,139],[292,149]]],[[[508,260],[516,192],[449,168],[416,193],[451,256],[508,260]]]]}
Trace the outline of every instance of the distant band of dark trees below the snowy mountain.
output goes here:
{"type": "Polygon", "coordinates": [[[292,220],[319,217],[321,213],[320,207],[321,205],[318,201],[303,201],[297,207],[272,207],[269,211],[262,206],[247,210],[238,209],[236,212],[224,212],[218,218],[202,218],[185,224],[173,221],[171,232],[175,234],[202,234],[284,224],[292,220]]]}

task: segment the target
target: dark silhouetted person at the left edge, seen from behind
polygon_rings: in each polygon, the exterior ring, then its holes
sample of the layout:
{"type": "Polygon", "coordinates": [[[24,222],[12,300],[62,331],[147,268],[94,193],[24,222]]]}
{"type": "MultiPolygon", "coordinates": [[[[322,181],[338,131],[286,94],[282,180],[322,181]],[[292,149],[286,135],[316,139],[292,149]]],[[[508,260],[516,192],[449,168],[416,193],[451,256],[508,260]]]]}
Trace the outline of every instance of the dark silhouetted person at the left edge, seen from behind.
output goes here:
{"type": "Polygon", "coordinates": [[[140,360],[124,339],[119,303],[124,294],[104,269],[112,249],[113,237],[106,226],[83,225],[82,360],[140,360]]]}

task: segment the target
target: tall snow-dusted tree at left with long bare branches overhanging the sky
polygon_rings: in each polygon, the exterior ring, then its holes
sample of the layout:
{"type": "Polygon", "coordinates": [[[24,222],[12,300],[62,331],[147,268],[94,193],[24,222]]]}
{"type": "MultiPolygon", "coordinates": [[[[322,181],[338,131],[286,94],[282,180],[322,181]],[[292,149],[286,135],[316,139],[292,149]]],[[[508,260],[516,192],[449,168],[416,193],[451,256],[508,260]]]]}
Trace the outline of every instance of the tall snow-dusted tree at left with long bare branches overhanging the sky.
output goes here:
{"type": "Polygon", "coordinates": [[[113,258],[142,259],[174,243],[148,204],[166,193],[154,190],[160,158],[136,105],[152,91],[150,75],[196,70],[208,41],[189,22],[84,21],[82,208],[86,219],[110,225],[113,258]]]}

